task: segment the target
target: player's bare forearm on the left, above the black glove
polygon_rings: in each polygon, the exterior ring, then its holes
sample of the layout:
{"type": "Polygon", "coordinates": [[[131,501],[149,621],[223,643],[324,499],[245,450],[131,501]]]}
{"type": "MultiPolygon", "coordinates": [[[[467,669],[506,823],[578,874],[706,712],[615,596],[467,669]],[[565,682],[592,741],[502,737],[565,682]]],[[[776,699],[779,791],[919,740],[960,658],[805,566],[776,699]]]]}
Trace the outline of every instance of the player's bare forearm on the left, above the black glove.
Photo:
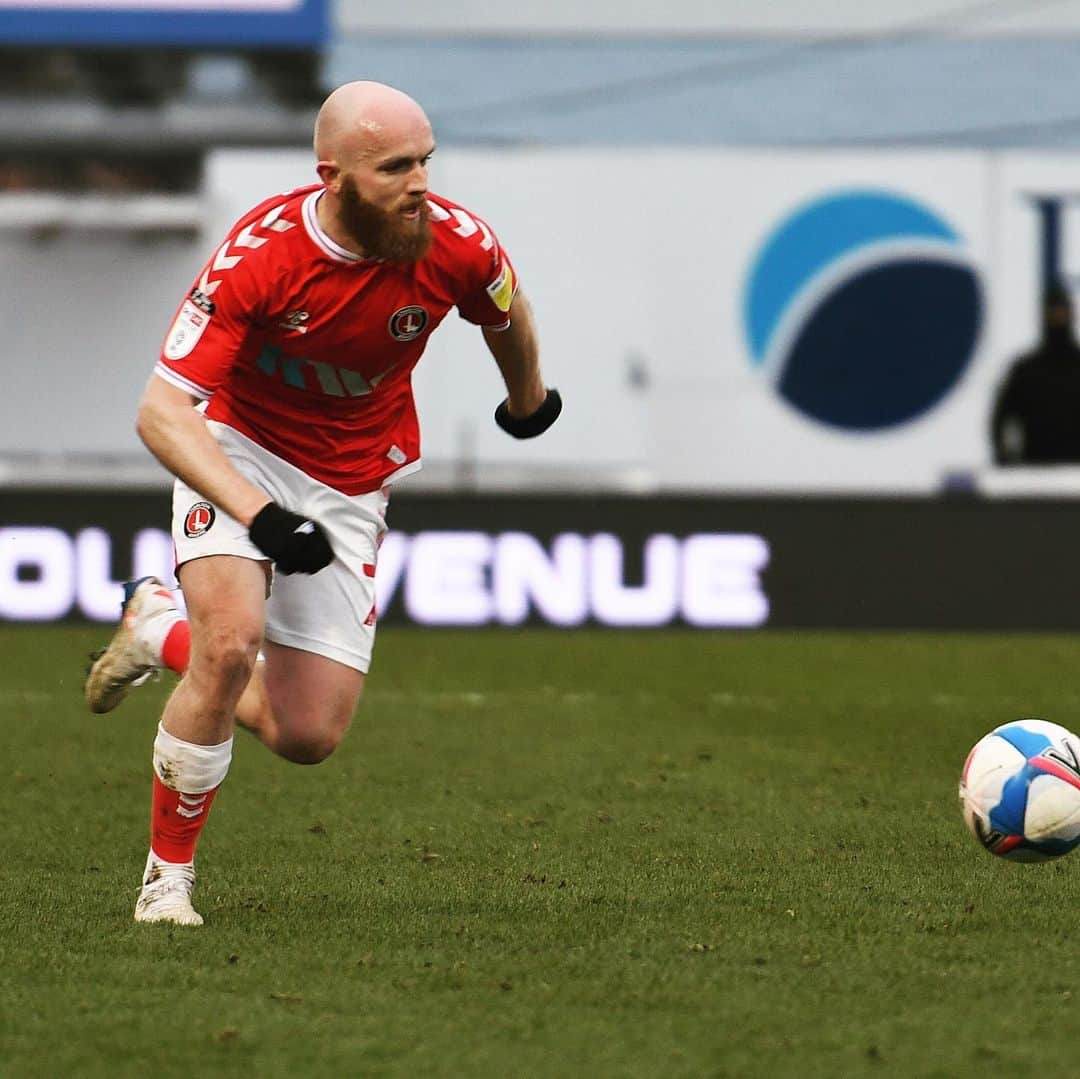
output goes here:
{"type": "Polygon", "coordinates": [[[153,375],[143,394],[135,429],[173,475],[248,528],[270,498],[229,462],[202,413],[195,410],[198,401],[153,375]]]}

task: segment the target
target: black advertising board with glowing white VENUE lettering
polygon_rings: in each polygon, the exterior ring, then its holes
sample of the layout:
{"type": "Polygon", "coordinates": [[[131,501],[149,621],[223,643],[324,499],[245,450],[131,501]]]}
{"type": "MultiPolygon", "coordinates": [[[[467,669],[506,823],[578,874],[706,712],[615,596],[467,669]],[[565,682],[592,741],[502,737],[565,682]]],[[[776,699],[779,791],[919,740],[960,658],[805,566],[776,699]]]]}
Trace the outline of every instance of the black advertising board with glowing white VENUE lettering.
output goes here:
{"type": "MultiPolygon", "coordinates": [[[[163,495],[0,496],[0,621],[170,583],[163,495]]],[[[1080,630],[1080,503],[395,496],[380,624],[1080,630]]]]}

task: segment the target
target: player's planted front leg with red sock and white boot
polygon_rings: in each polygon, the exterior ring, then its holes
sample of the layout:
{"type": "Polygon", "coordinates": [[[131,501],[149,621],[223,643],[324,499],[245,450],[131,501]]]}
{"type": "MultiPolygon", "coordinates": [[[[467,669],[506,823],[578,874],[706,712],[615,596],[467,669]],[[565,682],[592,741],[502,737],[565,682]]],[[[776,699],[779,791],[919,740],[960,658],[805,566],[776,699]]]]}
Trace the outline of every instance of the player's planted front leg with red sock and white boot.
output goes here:
{"type": "Polygon", "coordinates": [[[190,662],[154,740],[150,853],[135,919],[201,925],[191,906],[195,844],[232,759],[233,715],[262,640],[266,571],[261,562],[211,555],[179,574],[190,662]]]}

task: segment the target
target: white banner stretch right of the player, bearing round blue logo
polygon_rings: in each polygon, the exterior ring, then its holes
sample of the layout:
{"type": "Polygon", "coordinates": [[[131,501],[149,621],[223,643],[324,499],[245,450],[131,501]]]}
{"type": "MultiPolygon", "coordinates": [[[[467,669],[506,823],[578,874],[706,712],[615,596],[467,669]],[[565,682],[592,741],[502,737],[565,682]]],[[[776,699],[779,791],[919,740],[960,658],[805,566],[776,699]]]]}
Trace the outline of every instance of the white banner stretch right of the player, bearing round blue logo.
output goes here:
{"type": "Polygon", "coordinates": [[[567,409],[535,445],[472,431],[498,382],[460,333],[418,376],[429,454],[469,429],[481,461],[664,488],[934,490],[990,461],[995,388],[1038,335],[1043,203],[1080,283],[1077,158],[459,152],[433,184],[499,230],[567,409]]]}

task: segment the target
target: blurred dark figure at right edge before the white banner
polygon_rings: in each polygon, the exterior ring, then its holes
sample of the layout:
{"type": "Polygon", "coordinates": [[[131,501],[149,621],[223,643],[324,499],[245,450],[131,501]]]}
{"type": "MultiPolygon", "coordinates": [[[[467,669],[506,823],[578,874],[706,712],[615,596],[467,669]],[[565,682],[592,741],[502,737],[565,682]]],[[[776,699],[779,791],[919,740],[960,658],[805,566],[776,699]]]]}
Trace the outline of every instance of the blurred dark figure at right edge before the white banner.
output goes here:
{"type": "Polygon", "coordinates": [[[998,390],[990,433],[998,464],[1080,463],[1080,346],[1062,285],[1043,298],[1042,340],[998,390]]]}

